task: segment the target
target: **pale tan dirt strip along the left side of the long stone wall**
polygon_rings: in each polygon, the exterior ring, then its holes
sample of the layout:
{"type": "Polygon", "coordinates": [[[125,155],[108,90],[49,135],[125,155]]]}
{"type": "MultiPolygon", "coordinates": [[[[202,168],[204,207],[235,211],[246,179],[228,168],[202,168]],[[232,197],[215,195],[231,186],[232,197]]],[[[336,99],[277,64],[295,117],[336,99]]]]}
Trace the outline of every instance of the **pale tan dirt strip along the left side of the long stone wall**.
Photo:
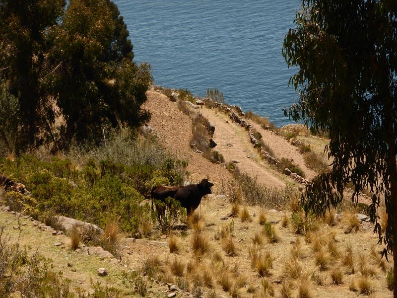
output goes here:
{"type": "Polygon", "coordinates": [[[223,113],[215,114],[215,110],[204,107],[200,109],[200,112],[215,126],[213,137],[217,144],[215,149],[222,153],[225,161],[237,160],[237,166],[242,172],[257,176],[258,182],[266,186],[285,186],[286,177],[282,177],[275,170],[266,167],[258,151],[251,145],[248,133],[241,126],[228,120],[223,113]]]}

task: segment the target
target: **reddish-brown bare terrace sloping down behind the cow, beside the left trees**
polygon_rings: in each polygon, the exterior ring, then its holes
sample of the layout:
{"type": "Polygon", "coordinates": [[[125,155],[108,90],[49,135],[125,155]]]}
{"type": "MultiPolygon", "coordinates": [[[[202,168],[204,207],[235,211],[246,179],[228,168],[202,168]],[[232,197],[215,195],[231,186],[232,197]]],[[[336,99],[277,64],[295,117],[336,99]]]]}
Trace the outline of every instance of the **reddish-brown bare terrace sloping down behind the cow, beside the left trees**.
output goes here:
{"type": "Polygon", "coordinates": [[[146,94],[148,99],[142,108],[152,114],[149,125],[156,130],[159,141],[165,148],[189,160],[190,180],[198,182],[209,176],[215,182],[216,190],[221,181],[231,179],[230,173],[224,167],[208,161],[190,149],[192,120],[178,109],[177,103],[155,91],[147,91],[146,94]]]}

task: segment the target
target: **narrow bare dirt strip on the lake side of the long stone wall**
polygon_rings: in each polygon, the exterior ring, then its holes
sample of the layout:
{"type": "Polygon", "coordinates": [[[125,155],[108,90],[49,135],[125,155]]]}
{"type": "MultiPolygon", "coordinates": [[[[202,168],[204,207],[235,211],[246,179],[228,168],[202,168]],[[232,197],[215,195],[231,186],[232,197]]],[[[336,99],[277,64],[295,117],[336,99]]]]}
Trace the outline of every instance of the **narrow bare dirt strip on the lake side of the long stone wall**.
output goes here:
{"type": "Polygon", "coordinates": [[[261,133],[265,143],[273,150],[274,157],[281,159],[282,157],[291,159],[294,163],[299,165],[299,167],[305,172],[306,179],[311,180],[317,176],[317,172],[308,168],[305,164],[305,159],[301,153],[297,150],[298,148],[291,145],[282,136],[277,136],[269,130],[263,129],[259,124],[251,121],[250,122],[255,129],[261,133]]]}

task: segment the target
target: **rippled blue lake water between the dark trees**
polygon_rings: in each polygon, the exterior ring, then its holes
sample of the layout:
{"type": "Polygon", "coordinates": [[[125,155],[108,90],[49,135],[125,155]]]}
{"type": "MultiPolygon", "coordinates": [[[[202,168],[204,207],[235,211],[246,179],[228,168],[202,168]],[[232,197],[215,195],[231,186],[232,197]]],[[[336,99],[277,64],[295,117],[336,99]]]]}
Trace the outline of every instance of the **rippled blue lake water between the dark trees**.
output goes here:
{"type": "Polygon", "coordinates": [[[203,96],[219,88],[229,104],[288,124],[282,108],[298,96],[288,87],[282,41],[299,0],[113,0],[130,31],[134,60],[152,66],[158,85],[203,96]]]}

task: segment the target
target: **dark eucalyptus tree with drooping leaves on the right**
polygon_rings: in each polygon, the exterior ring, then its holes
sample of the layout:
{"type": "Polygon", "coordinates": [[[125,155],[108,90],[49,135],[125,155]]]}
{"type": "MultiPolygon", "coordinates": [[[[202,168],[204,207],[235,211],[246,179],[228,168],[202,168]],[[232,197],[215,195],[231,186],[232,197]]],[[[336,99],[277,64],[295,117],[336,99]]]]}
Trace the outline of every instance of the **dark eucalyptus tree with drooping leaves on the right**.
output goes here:
{"type": "Polygon", "coordinates": [[[355,185],[354,203],[369,188],[382,256],[393,254],[397,297],[397,1],[303,0],[294,24],[282,53],[298,67],[289,83],[299,100],[284,113],[329,132],[334,160],[307,186],[303,206],[324,214],[341,202],[346,184],[355,185]],[[384,233],[376,215],[383,197],[384,233]]]}

